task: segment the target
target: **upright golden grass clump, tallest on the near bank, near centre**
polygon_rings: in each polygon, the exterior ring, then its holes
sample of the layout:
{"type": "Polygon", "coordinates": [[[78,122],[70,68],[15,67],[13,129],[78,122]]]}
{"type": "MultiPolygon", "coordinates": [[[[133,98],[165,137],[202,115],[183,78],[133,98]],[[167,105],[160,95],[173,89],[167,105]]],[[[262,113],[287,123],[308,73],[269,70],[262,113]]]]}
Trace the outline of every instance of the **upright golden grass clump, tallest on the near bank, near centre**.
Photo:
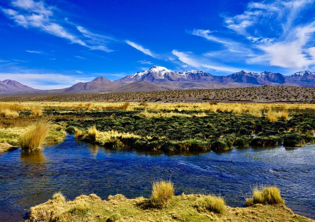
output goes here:
{"type": "Polygon", "coordinates": [[[174,183],[169,180],[159,179],[152,182],[150,203],[152,207],[161,208],[174,195],[174,183]]]}

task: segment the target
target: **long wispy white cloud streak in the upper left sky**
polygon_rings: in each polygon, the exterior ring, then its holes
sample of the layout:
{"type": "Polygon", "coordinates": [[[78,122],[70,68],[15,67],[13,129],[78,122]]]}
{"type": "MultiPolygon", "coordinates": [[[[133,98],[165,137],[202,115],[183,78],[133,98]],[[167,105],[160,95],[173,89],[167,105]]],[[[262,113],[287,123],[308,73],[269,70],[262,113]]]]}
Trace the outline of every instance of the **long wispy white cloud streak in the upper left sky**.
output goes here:
{"type": "Polygon", "coordinates": [[[42,32],[67,39],[71,43],[91,50],[113,51],[106,45],[108,41],[114,40],[113,38],[90,32],[81,26],[77,26],[76,30],[64,27],[61,22],[58,22],[62,19],[54,15],[56,7],[46,5],[43,1],[35,2],[33,0],[14,0],[11,3],[14,9],[2,8],[2,11],[20,26],[37,28],[42,32]]]}

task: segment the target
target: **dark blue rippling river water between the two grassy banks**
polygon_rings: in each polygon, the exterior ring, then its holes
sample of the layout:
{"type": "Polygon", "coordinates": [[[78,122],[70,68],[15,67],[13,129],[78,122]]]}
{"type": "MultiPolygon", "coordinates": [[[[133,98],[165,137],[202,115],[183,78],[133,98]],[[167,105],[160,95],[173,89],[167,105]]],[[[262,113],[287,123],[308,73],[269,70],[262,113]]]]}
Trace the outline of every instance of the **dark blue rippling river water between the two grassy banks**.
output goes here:
{"type": "Polygon", "coordinates": [[[275,184],[294,212],[315,218],[315,147],[234,148],[221,152],[113,150],[66,140],[38,153],[0,154],[0,218],[19,221],[30,206],[61,191],[68,199],[95,193],[150,195],[151,181],[171,176],[177,194],[220,192],[228,205],[243,206],[256,183],[275,184]]]}

